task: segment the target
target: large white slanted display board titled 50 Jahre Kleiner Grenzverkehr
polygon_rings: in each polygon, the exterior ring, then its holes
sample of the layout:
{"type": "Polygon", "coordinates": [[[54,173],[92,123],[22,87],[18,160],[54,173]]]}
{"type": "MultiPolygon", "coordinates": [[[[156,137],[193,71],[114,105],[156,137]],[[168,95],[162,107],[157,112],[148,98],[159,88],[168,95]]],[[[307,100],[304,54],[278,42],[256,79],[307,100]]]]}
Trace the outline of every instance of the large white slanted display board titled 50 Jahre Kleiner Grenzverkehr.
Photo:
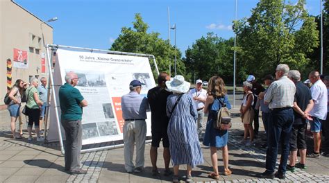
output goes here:
{"type": "MultiPolygon", "coordinates": [[[[56,111],[60,118],[58,89],[65,83],[65,74],[74,71],[78,75],[79,89],[87,107],[83,107],[83,145],[123,139],[124,119],[121,111],[121,96],[128,94],[131,80],[142,82],[142,96],[155,87],[155,80],[148,57],[116,55],[76,51],[58,48],[56,51],[53,87],[57,106],[50,107],[48,141],[58,141],[58,133],[65,137],[61,125],[56,124],[56,111]],[[57,110],[56,110],[57,107],[57,110]]],[[[151,136],[151,114],[147,112],[147,136],[151,136]]],[[[60,123],[59,121],[57,123],[60,123]]]]}

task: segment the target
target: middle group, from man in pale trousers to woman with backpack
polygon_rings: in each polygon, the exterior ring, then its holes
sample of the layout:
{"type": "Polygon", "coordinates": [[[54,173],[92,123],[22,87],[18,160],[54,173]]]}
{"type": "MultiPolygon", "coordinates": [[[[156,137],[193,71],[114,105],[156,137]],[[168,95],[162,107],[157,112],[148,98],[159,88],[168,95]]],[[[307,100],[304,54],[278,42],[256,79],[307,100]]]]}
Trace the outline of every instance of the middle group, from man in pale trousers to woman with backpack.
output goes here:
{"type": "Polygon", "coordinates": [[[173,182],[179,180],[179,166],[187,165],[186,182],[192,182],[192,168],[203,164],[200,141],[210,146],[213,172],[208,175],[219,179],[217,149],[223,153],[223,175],[230,175],[228,168],[228,131],[214,129],[217,112],[224,103],[230,108],[227,90],[219,76],[210,78],[208,89],[202,89],[202,80],[196,80],[195,89],[183,76],[170,78],[162,72],[158,76],[158,86],[150,89],[147,98],[140,95],[142,83],[130,82],[130,93],[122,96],[121,110],[124,118],[124,159],[128,173],[141,172],[144,168],[144,148],[146,137],[146,111],[151,109],[151,164],[152,175],[160,175],[157,166],[158,147],[162,141],[165,161],[165,176],[173,174],[173,182]],[[189,93],[187,93],[189,92],[189,93]],[[208,113],[208,122],[203,124],[203,116],[208,113]],[[205,128],[204,137],[202,131],[205,128]],[[136,145],[135,165],[133,150],[136,145]],[[171,172],[169,164],[174,166],[171,172]]]}

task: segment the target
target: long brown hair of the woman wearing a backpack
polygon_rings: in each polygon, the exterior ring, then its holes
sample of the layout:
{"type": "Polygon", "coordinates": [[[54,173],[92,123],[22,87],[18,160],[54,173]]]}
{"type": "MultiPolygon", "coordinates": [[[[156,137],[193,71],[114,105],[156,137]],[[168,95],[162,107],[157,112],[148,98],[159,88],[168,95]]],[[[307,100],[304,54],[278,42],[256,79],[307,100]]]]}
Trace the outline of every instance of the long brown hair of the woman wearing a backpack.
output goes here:
{"type": "Polygon", "coordinates": [[[212,76],[208,82],[207,94],[209,96],[223,97],[227,94],[225,83],[219,76],[212,76]]]}

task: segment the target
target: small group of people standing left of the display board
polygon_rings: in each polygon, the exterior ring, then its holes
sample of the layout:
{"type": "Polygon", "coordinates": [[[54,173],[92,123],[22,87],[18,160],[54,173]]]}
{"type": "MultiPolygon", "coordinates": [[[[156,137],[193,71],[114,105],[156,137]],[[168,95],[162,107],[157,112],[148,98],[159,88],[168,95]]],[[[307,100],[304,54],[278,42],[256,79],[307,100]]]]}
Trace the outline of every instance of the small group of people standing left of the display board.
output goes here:
{"type": "Polygon", "coordinates": [[[47,108],[47,78],[31,78],[30,83],[21,79],[16,80],[15,85],[10,89],[8,97],[8,111],[10,114],[10,129],[13,139],[23,138],[23,125],[27,123],[28,141],[33,139],[33,124],[37,141],[44,141],[41,136],[40,127],[44,122],[44,114],[47,108]],[[26,118],[28,116],[28,119],[26,118]],[[16,132],[16,121],[19,119],[19,134],[16,132]]]}

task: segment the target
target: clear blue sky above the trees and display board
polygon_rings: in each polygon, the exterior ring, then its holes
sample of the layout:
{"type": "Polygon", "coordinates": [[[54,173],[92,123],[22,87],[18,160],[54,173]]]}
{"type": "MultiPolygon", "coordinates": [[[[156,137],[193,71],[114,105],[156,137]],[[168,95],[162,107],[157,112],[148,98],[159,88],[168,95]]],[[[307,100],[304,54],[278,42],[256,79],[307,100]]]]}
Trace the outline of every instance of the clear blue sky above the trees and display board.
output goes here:
{"type": "MultiPolygon", "coordinates": [[[[53,27],[53,44],[90,49],[110,49],[121,28],[133,27],[136,13],[149,25],[148,33],[167,40],[170,24],[176,24],[176,46],[185,55],[188,47],[209,32],[234,37],[235,0],[14,0],[53,27]]],[[[291,0],[295,3],[296,0],[291,0]]],[[[307,0],[310,15],[320,14],[321,0],[307,0]]],[[[237,19],[250,17],[259,1],[237,0],[237,19]]],[[[170,33],[174,45],[174,30],[170,33]]]]}

